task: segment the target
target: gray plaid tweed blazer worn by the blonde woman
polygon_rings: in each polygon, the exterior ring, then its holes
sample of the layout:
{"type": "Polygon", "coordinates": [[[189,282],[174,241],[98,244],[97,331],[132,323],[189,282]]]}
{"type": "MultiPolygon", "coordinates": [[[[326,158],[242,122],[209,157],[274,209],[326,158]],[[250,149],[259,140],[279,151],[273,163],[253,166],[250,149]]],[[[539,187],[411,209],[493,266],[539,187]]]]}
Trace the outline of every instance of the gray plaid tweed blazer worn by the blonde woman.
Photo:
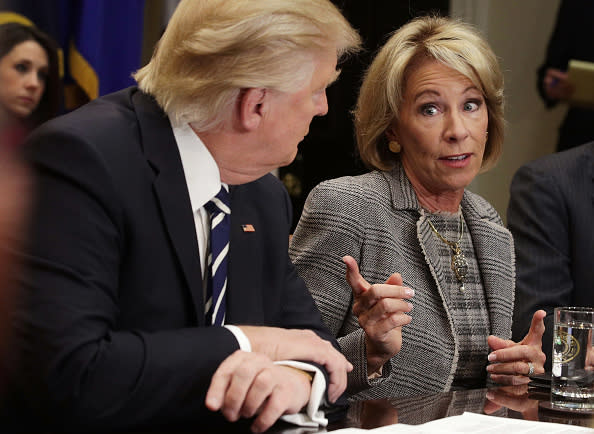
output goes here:
{"type": "MultiPolygon", "coordinates": [[[[515,280],[511,233],[480,196],[466,191],[461,207],[480,268],[491,333],[509,339],[515,280]]],[[[291,258],[354,365],[347,391],[356,398],[446,391],[454,379],[458,338],[442,295],[446,270],[438,261],[440,241],[425,220],[400,165],[391,172],[323,182],[305,204],[291,258]],[[370,283],[383,283],[399,272],[404,285],[415,290],[402,350],[384,365],[381,378],[367,378],[364,333],[352,313],[344,255],[357,260],[370,283]]]]}

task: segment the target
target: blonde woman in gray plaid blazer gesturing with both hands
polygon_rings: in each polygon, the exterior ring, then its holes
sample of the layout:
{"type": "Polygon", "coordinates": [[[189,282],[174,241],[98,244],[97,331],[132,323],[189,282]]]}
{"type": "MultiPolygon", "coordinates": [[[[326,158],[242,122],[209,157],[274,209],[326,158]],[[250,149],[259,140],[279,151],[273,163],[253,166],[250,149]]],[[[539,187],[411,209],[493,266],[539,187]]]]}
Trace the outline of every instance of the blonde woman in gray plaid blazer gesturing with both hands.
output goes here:
{"type": "Polygon", "coordinates": [[[373,171],[314,189],[290,250],[355,367],[348,391],[415,395],[543,372],[544,312],[524,341],[507,340],[511,234],[466,190],[503,144],[503,77],[487,43],[447,18],[406,24],[367,71],[355,125],[373,171]]]}

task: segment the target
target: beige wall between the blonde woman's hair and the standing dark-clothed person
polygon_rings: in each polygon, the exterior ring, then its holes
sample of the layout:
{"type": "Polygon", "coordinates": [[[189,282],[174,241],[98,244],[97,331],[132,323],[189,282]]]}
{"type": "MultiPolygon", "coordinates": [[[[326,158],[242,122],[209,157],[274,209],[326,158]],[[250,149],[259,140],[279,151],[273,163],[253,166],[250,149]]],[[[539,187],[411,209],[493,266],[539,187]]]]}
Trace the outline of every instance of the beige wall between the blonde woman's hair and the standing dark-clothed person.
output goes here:
{"type": "Polygon", "coordinates": [[[451,0],[453,15],[475,23],[486,35],[505,74],[503,156],[470,186],[504,220],[513,174],[526,161],[553,152],[565,114],[565,107],[546,110],[536,92],[536,69],[544,59],[559,1],[451,0]]]}

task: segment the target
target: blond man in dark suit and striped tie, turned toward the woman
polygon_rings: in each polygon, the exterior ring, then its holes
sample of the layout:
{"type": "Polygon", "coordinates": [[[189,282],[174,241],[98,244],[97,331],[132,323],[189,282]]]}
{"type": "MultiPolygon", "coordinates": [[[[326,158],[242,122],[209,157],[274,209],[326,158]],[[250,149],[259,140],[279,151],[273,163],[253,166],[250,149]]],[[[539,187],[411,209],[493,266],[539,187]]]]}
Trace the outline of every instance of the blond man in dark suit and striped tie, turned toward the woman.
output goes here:
{"type": "Polygon", "coordinates": [[[321,395],[336,400],[351,366],[289,260],[289,199],[268,173],[293,160],[358,45],[327,0],[184,0],[138,88],[32,136],[18,342],[27,397],[54,423],[323,423],[321,395]],[[221,188],[228,265],[213,302],[207,203],[221,188]]]}

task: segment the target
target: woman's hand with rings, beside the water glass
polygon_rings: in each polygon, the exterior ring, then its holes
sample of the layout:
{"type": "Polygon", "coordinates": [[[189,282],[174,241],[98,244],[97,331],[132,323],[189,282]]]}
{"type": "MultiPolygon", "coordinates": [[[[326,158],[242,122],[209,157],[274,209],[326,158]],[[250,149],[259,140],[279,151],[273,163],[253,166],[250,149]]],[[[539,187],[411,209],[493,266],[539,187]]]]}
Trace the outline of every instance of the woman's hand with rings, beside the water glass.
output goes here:
{"type": "Polygon", "coordinates": [[[507,385],[527,384],[530,365],[535,374],[544,372],[545,354],[542,352],[542,335],[545,330],[544,310],[537,310],[532,317],[530,330],[524,339],[516,343],[496,336],[489,336],[487,342],[494,351],[489,354],[487,366],[491,379],[496,383],[507,385]]]}

